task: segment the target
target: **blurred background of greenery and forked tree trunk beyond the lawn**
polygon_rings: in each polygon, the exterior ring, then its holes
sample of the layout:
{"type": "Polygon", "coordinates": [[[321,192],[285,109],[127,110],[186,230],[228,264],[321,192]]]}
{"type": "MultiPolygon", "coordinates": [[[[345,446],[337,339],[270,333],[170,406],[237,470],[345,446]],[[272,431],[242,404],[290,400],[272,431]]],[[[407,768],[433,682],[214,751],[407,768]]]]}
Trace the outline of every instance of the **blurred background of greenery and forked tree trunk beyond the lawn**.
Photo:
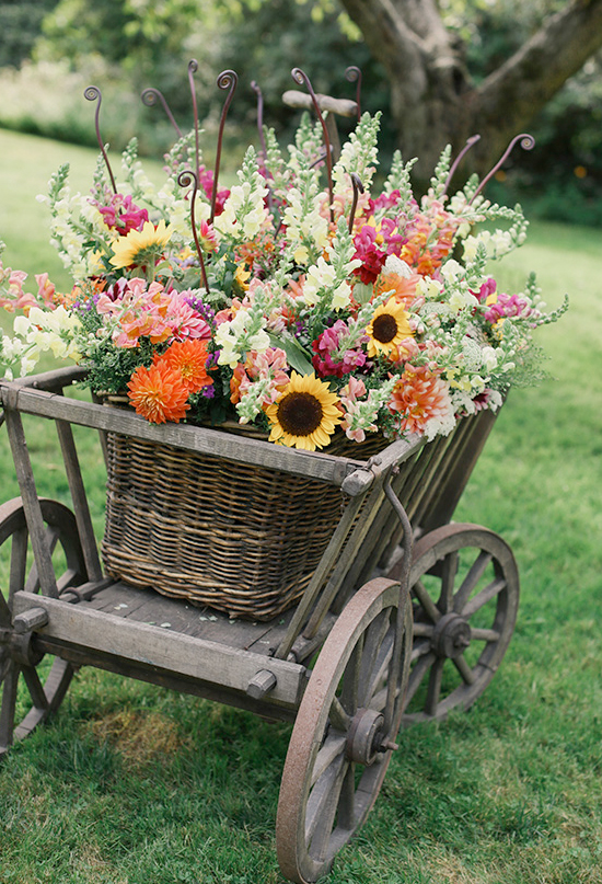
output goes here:
{"type": "Polygon", "coordinates": [[[285,139],[298,119],[281,102],[293,88],[290,69],[302,67],[316,91],[352,97],[345,69],[357,65],[364,108],[391,108],[383,164],[395,147],[407,159],[418,154],[424,184],[444,143],[458,150],[478,131],[471,159],[483,172],[510,135],[529,128],[537,147],[517,151],[499,175],[505,200],[520,198],[543,217],[597,223],[600,45],[602,0],[8,2],[0,5],[0,125],[95,143],[93,113],[81,97],[94,82],[103,90],[104,138],[120,148],[136,134],[142,151],[157,154],[173,130],[160,108],[141,105],[139,93],[160,88],[188,126],[186,66],[194,57],[209,162],[223,101],[216,77],[223,68],[239,73],[228,126],[238,162],[255,137],[252,80],[264,93],[266,123],[285,139]]]}

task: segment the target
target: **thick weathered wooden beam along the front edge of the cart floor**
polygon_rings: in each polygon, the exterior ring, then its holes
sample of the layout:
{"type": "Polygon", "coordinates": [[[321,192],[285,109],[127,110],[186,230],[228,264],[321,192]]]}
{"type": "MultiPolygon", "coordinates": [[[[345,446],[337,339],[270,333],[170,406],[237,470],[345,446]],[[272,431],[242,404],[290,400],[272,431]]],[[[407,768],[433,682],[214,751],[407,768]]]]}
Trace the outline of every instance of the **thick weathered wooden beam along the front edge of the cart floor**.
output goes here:
{"type": "Polygon", "coordinates": [[[69,605],[30,593],[15,594],[15,613],[32,607],[48,611],[48,623],[39,630],[40,635],[86,648],[92,652],[92,664],[93,652],[99,651],[239,691],[246,690],[257,671],[269,669],[277,679],[271,693],[276,700],[297,703],[301,698],[304,666],[134,620],[124,622],[119,617],[83,605],[69,605]]]}

